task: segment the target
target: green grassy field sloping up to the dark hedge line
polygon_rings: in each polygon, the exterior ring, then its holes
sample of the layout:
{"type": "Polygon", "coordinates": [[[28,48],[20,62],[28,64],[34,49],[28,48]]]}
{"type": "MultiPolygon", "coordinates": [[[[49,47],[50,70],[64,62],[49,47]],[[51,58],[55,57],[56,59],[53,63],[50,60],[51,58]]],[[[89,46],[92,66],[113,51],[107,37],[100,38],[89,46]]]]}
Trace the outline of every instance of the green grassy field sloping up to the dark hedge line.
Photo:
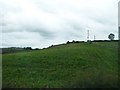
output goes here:
{"type": "Polygon", "coordinates": [[[3,88],[118,87],[117,51],[117,42],[94,42],[4,54],[3,88]]]}

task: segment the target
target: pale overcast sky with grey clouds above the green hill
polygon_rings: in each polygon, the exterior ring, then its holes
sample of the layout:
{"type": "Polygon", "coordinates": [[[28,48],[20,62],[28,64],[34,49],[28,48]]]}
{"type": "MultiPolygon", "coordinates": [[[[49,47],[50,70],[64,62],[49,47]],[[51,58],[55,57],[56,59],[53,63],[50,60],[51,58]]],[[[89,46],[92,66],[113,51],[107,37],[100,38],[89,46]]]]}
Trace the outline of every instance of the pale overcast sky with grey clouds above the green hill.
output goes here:
{"type": "Polygon", "coordinates": [[[0,0],[2,47],[118,39],[119,0],[0,0]]]}

